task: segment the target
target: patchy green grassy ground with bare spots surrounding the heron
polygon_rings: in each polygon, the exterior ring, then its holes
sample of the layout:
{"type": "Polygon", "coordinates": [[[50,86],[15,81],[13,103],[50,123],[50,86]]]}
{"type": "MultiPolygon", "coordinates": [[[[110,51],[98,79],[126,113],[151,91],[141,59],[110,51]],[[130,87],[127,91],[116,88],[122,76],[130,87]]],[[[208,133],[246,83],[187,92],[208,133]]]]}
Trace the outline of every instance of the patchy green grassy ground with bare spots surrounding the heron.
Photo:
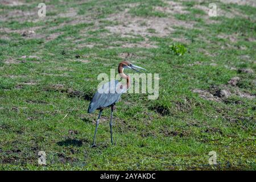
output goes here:
{"type": "Polygon", "coordinates": [[[254,1],[40,2],[0,1],[1,170],[256,169],[254,1]],[[122,60],[159,73],[159,98],[123,94],[115,144],[108,109],[91,148],[97,76],[122,60]]]}

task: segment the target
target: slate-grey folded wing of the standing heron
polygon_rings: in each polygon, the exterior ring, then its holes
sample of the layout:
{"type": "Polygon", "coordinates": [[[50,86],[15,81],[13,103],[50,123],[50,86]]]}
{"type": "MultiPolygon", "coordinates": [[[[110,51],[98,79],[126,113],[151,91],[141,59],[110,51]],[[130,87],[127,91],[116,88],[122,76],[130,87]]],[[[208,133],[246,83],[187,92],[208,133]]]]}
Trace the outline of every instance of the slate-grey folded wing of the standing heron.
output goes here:
{"type": "Polygon", "coordinates": [[[94,94],[92,101],[90,101],[90,104],[88,107],[88,113],[93,113],[93,111],[96,109],[99,109],[101,107],[108,107],[114,104],[115,102],[118,102],[118,100],[121,97],[121,93],[117,93],[115,92],[115,90],[113,90],[115,89],[115,85],[117,84],[118,84],[118,81],[113,80],[102,85],[101,89],[103,90],[98,90],[94,94]]]}

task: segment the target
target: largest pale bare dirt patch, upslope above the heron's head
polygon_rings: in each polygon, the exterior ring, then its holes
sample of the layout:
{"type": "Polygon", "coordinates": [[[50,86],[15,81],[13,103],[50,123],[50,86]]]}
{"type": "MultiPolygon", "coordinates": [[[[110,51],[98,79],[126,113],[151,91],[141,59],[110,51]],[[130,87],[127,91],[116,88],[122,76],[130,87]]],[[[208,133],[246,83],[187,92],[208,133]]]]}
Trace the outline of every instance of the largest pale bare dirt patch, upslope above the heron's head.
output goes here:
{"type": "Polygon", "coordinates": [[[185,28],[193,28],[193,22],[186,22],[175,19],[171,14],[184,13],[183,7],[180,3],[167,1],[168,6],[155,7],[157,10],[170,11],[170,16],[159,18],[159,17],[140,17],[132,16],[128,13],[129,9],[126,9],[122,13],[112,14],[106,20],[118,22],[118,25],[107,26],[112,34],[119,34],[121,36],[160,36],[164,37],[170,35],[174,31],[175,26],[181,26],[185,28]],[[154,30],[154,31],[149,31],[154,30]]]}

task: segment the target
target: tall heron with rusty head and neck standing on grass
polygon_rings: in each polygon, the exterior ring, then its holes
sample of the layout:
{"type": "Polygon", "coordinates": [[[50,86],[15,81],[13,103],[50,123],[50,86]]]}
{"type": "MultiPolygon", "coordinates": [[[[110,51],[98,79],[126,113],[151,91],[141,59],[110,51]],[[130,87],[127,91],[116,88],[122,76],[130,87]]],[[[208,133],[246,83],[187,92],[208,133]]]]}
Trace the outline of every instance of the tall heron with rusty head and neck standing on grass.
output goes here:
{"type": "Polygon", "coordinates": [[[117,103],[120,100],[122,93],[125,93],[130,87],[130,76],[123,73],[124,69],[132,69],[139,73],[142,73],[142,72],[139,71],[138,69],[142,69],[146,71],[146,69],[142,67],[138,67],[137,65],[131,64],[129,61],[122,61],[121,63],[118,64],[118,73],[119,73],[119,76],[122,77],[122,79],[126,80],[126,83],[122,84],[122,82],[119,82],[118,80],[110,80],[109,82],[102,85],[94,94],[88,107],[88,113],[93,113],[95,110],[100,110],[100,112],[96,120],[96,128],[94,131],[93,143],[91,147],[96,147],[95,139],[96,139],[96,133],[97,133],[101,113],[104,109],[108,107],[111,107],[109,126],[110,126],[111,143],[113,144],[112,119],[113,119],[115,103],[117,103]]]}

